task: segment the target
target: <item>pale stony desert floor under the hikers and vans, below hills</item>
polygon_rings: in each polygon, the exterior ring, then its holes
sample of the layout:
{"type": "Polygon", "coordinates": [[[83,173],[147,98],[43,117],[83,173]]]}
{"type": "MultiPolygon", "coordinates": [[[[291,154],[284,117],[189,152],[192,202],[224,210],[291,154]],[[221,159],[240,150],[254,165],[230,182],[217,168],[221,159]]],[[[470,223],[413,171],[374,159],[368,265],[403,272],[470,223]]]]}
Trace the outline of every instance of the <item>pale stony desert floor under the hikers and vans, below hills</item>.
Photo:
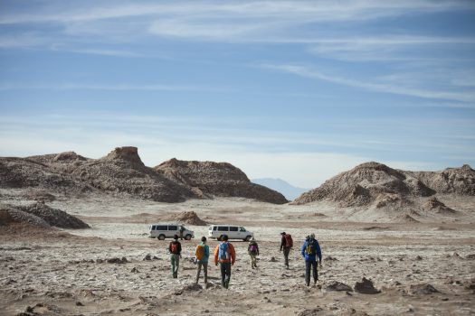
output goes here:
{"type": "MultiPolygon", "coordinates": [[[[7,203],[28,202],[14,191],[1,196],[7,203]]],[[[391,223],[368,210],[324,203],[272,205],[233,198],[166,204],[102,195],[63,197],[48,205],[81,218],[90,229],[0,229],[0,314],[472,315],[475,200],[441,200],[461,213],[391,223]],[[247,243],[233,240],[237,262],[230,288],[221,288],[214,265],[208,285],[203,278],[194,285],[194,250],[207,227],[187,225],[195,238],[182,242],[180,271],[173,279],[169,240],[149,238],[147,227],[189,210],[209,223],[252,230],[261,250],[259,269],[251,269],[247,243]],[[290,269],[279,251],[281,231],[292,234],[296,246],[290,269]],[[323,265],[317,285],[307,287],[299,246],[311,232],[322,248],[323,265]],[[380,293],[355,292],[364,277],[380,293]]],[[[214,249],[216,241],[209,245],[214,249]]]]}

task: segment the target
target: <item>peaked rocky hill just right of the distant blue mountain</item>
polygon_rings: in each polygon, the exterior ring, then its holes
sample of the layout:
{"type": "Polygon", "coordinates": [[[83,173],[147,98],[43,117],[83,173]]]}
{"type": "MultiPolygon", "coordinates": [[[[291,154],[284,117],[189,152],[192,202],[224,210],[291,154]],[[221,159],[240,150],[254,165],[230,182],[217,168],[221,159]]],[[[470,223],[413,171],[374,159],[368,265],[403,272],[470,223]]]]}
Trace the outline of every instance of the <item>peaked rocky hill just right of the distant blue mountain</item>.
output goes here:
{"type": "Polygon", "coordinates": [[[375,207],[381,208],[394,203],[403,205],[409,196],[427,197],[434,193],[422,181],[404,172],[382,163],[363,163],[302,194],[294,203],[331,200],[342,207],[375,203],[375,207]]]}

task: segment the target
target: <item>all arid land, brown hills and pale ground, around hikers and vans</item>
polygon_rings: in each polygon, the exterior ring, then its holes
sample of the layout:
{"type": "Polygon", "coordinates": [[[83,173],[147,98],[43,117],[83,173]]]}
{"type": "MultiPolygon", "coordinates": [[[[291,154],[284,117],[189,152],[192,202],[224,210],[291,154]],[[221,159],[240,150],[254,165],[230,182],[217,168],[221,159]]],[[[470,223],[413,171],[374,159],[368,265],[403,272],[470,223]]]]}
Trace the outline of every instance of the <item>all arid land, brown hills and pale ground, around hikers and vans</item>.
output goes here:
{"type": "MultiPolygon", "coordinates": [[[[404,172],[363,163],[288,203],[229,163],[145,166],[135,147],[91,160],[76,153],[0,158],[2,315],[471,315],[475,313],[475,171],[404,172]],[[169,240],[148,226],[179,221],[178,278],[169,240]],[[194,284],[207,224],[237,224],[230,288],[219,268],[194,284]],[[290,269],[280,232],[294,238],[290,269]],[[315,233],[318,283],[299,254],[315,233]]],[[[215,240],[209,245],[214,250],[215,240]]]]}

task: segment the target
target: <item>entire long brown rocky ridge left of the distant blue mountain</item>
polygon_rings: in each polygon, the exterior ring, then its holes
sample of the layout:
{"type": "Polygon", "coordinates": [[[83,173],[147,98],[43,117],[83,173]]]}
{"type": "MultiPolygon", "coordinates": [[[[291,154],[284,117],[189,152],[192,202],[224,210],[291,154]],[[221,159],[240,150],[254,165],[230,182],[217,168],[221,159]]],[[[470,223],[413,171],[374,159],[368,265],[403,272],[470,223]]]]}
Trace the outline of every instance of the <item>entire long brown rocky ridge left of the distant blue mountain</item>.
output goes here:
{"type": "Polygon", "coordinates": [[[147,167],[137,147],[118,147],[100,159],[74,152],[27,158],[0,158],[0,188],[79,194],[87,191],[128,195],[161,202],[213,196],[244,197],[271,203],[286,203],[277,191],[251,183],[229,163],[179,162],[172,159],[155,169],[147,167]]]}

